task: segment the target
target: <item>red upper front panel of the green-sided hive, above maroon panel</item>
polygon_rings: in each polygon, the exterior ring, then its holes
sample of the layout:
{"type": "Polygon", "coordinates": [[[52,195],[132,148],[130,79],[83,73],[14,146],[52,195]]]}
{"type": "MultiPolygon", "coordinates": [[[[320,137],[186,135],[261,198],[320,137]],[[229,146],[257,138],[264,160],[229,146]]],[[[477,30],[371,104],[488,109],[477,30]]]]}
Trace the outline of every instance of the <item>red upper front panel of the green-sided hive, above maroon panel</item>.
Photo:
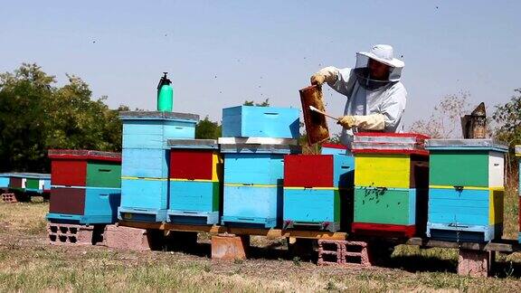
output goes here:
{"type": "Polygon", "coordinates": [[[51,184],[65,186],[85,186],[87,180],[87,161],[51,161],[51,184]]]}

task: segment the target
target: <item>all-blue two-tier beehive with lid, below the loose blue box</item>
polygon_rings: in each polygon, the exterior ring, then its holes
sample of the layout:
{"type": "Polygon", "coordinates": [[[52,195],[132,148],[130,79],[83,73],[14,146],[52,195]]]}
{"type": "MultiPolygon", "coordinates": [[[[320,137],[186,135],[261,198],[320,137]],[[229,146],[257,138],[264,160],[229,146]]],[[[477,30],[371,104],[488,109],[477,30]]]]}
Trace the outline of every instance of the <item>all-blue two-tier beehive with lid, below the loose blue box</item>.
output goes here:
{"type": "Polygon", "coordinates": [[[224,156],[221,222],[262,228],[279,225],[284,155],[298,151],[280,145],[221,145],[224,156]]]}

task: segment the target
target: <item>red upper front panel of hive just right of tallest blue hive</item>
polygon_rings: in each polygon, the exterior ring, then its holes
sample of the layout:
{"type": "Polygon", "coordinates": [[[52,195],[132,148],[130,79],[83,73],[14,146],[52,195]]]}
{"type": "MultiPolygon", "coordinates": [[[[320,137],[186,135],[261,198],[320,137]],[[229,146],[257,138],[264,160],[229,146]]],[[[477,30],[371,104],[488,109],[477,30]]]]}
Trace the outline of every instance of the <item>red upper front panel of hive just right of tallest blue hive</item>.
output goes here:
{"type": "Polygon", "coordinates": [[[212,180],[213,151],[170,150],[170,178],[212,180]]]}

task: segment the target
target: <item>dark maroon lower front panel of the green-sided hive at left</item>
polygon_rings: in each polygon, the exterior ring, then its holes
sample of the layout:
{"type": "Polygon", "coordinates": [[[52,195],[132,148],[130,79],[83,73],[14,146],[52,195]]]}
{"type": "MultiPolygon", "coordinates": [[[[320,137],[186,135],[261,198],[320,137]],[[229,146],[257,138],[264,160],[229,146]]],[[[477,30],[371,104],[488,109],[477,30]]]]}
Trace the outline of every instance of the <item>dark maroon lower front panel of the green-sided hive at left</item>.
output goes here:
{"type": "Polygon", "coordinates": [[[83,214],[85,211],[84,188],[52,188],[49,213],[83,214]]]}

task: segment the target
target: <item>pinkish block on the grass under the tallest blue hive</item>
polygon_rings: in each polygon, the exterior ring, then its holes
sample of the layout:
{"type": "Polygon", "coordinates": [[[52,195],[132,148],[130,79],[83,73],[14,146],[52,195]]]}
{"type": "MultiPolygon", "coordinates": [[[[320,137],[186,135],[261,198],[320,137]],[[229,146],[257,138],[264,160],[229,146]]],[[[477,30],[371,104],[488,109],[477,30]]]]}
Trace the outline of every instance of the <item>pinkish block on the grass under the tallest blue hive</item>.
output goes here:
{"type": "Polygon", "coordinates": [[[107,247],[122,250],[155,250],[163,241],[160,231],[117,225],[107,225],[104,236],[107,247]]]}

